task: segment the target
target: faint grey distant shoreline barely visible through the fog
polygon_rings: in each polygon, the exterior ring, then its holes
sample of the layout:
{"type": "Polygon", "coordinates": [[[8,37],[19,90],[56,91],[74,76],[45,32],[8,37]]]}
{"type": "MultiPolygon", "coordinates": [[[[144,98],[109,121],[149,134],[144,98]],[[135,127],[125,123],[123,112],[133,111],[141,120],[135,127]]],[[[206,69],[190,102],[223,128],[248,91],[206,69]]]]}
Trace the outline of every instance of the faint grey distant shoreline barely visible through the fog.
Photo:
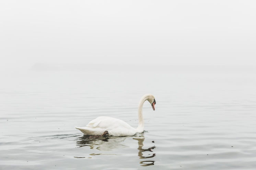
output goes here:
{"type": "Polygon", "coordinates": [[[144,72],[196,72],[196,73],[256,73],[253,65],[138,65],[138,64],[48,64],[35,63],[32,71],[144,71],[144,72]]]}

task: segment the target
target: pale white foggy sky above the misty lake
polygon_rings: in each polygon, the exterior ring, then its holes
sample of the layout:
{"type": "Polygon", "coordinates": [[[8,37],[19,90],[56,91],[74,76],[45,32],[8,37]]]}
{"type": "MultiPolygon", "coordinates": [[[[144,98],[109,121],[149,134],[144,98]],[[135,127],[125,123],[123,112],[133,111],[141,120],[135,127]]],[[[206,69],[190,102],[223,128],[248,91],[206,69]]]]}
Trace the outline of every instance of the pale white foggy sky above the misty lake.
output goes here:
{"type": "Polygon", "coordinates": [[[256,65],[256,1],[0,2],[0,70],[35,63],[256,65]]]}

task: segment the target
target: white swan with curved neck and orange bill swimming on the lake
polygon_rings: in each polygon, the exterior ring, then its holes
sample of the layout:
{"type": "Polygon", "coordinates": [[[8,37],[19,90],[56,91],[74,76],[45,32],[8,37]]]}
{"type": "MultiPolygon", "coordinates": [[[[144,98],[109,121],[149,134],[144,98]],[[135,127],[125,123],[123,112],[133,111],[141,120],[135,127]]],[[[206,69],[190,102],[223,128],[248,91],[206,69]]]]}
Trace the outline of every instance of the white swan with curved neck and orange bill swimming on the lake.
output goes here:
{"type": "Polygon", "coordinates": [[[131,127],[128,123],[123,120],[116,119],[113,117],[100,116],[90,121],[85,127],[75,127],[81,132],[87,135],[101,135],[106,130],[109,135],[113,136],[132,136],[135,133],[144,131],[144,121],[142,115],[142,106],[145,101],[149,101],[153,110],[155,110],[155,97],[152,94],[145,94],[141,97],[138,106],[138,128],[131,127]]]}

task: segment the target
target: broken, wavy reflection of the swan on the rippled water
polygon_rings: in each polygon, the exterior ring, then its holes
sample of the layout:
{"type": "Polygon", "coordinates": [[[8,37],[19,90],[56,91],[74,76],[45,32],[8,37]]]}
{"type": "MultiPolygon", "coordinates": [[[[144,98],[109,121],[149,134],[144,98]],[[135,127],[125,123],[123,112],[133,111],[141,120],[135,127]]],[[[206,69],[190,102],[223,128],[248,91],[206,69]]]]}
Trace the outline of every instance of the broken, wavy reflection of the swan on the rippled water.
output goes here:
{"type": "MultiPolygon", "coordinates": [[[[106,136],[106,137],[100,137],[100,138],[91,138],[89,135],[83,135],[77,139],[77,146],[83,147],[83,146],[89,146],[90,149],[97,149],[100,151],[112,151],[113,149],[117,148],[127,148],[130,146],[127,146],[124,144],[123,141],[125,141],[127,138],[131,138],[133,140],[138,141],[138,156],[139,159],[148,159],[155,157],[155,154],[150,154],[149,156],[144,156],[143,152],[153,152],[153,149],[155,146],[149,147],[147,149],[142,148],[143,142],[145,140],[144,136],[141,136],[140,134],[135,136],[125,136],[125,137],[118,137],[118,136],[106,136]]],[[[119,155],[119,154],[90,154],[92,156],[94,155],[119,155]]],[[[150,166],[154,165],[153,160],[144,160],[140,161],[139,163],[142,164],[141,166],[150,166]]]]}

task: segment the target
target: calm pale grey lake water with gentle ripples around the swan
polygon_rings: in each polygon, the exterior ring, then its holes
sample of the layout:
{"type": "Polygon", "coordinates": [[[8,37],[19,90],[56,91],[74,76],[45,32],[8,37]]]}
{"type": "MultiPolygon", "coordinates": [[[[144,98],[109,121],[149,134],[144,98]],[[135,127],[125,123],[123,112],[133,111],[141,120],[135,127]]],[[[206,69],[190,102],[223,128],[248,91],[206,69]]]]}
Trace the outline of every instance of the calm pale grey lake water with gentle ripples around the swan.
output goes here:
{"type": "MultiPolygon", "coordinates": [[[[127,66],[129,67],[129,66],[127,66]]],[[[247,67],[29,70],[0,85],[0,169],[254,170],[256,71],[247,67]],[[75,126],[111,116],[145,132],[90,139],[75,126]]]]}

